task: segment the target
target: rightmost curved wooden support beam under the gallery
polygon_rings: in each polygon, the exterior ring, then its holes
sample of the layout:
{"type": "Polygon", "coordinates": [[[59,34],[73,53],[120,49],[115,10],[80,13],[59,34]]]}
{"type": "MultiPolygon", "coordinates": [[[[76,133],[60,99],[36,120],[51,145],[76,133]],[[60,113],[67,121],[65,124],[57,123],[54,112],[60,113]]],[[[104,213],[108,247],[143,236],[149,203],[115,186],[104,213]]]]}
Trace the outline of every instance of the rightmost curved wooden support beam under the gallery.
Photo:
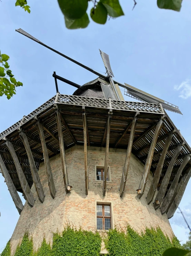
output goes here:
{"type": "Polygon", "coordinates": [[[184,191],[187,187],[187,184],[189,182],[189,179],[191,177],[191,168],[189,169],[189,172],[187,174],[187,176],[184,176],[183,179],[180,181],[180,183],[182,183],[181,187],[177,186],[177,189],[175,191],[175,194],[174,194],[174,200],[167,212],[167,218],[170,219],[173,217],[175,211],[177,210],[179,204],[180,204],[180,201],[182,200],[182,196],[184,194],[184,191]]]}

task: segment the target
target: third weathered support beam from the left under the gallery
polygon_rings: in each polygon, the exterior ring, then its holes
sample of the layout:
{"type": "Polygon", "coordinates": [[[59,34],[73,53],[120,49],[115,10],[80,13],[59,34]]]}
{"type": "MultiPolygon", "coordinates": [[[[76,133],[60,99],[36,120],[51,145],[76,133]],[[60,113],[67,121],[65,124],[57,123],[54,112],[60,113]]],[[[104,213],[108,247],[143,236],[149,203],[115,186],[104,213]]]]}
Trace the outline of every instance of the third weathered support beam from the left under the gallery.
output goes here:
{"type": "Polygon", "coordinates": [[[27,140],[27,136],[23,132],[20,132],[19,135],[20,135],[20,138],[21,138],[21,140],[22,140],[22,142],[24,144],[24,147],[25,147],[25,149],[27,151],[27,156],[29,158],[29,164],[30,164],[30,170],[31,170],[31,174],[32,174],[32,179],[33,179],[34,186],[36,188],[36,192],[37,192],[39,201],[41,203],[43,203],[44,202],[44,192],[43,192],[43,188],[42,188],[42,185],[41,185],[41,182],[40,182],[40,178],[39,178],[39,174],[38,174],[38,171],[37,171],[37,167],[35,165],[35,162],[34,162],[34,159],[33,159],[33,156],[32,156],[30,145],[29,145],[29,142],[27,140]]]}

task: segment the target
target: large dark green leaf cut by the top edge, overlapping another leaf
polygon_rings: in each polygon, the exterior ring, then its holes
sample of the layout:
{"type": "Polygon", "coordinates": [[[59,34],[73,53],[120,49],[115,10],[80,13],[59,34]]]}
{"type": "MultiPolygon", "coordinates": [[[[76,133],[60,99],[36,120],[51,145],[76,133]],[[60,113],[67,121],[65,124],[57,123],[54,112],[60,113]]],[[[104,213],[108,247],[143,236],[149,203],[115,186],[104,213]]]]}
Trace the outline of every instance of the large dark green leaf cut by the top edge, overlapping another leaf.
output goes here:
{"type": "Polygon", "coordinates": [[[88,0],[58,0],[60,9],[68,19],[80,19],[88,8],[88,0]]]}

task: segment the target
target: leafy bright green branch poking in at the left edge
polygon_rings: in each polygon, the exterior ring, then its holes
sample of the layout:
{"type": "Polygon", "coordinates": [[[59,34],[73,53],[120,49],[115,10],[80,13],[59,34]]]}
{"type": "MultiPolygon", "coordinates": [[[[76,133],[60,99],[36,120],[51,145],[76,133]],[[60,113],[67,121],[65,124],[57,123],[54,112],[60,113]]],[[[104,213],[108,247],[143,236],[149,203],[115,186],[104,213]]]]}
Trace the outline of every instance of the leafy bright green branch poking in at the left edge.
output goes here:
{"type": "Polygon", "coordinates": [[[6,95],[10,99],[13,94],[16,94],[16,87],[22,86],[21,82],[17,82],[9,69],[8,61],[9,56],[7,54],[1,54],[0,51],[0,96],[6,95]],[[10,80],[9,80],[9,79],[10,80]]]}

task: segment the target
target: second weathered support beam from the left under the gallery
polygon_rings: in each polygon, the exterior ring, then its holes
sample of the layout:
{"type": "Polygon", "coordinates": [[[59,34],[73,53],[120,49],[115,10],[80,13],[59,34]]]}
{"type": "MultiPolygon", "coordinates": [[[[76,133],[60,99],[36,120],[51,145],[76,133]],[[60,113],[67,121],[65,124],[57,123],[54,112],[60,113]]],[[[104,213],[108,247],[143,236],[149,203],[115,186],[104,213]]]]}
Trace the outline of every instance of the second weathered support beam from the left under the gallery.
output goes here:
{"type": "Polygon", "coordinates": [[[18,174],[18,177],[19,177],[19,181],[20,181],[20,184],[21,184],[21,187],[22,187],[23,194],[26,197],[26,200],[27,200],[28,204],[32,207],[34,205],[34,198],[33,198],[33,195],[31,193],[29,184],[27,183],[27,179],[26,179],[26,177],[23,173],[23,170],[22,170],[22,168],[19,164],[19,159],[17,158],[17,155],[14,151],[14,148],[13,148],[13,145],[11,144],[11,142],[6,141],[6,145],[7,145],[7,148],[9,149],[9,152],[11,153],[12,159],[14,161],[14,164],[15,164],[15,167],[16,167],[16,170],[17,170],[17,174],[18,174]]]}

